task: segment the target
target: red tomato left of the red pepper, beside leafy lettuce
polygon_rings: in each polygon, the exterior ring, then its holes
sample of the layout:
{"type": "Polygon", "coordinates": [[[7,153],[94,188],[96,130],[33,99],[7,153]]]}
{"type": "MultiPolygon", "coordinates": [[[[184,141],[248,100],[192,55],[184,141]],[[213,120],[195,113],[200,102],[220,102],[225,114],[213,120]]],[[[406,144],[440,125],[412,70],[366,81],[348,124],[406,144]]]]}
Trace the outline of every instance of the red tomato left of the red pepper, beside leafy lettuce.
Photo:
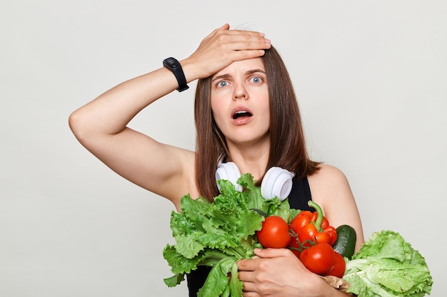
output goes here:
{"type": "Polygon", "coordinates": [[[256,232],[258,241],[264,248],[281,249],[290,243],[288,225],[283,218],[278,216],[266,217],[262,222],[262,229],[256,232]]]}

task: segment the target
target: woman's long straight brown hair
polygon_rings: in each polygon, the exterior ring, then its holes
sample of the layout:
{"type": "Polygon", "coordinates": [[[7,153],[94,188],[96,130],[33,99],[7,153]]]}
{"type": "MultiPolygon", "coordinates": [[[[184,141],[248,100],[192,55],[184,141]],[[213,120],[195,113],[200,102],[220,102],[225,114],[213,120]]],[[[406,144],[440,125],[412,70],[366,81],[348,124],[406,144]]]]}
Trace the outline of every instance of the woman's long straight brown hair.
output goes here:
{"type": "MultiPolygon", "coordinates": [[[[271,114],[271,145],[266,170],[278,166],[295,172],[296,177],[306,177],[318,170],[319,163],[308,157],[298,102],[286,66],[273,46],[265,52],[261,58],[266,68],[271,114]]],[[[211,77],[198,81],[194,110],[196,186],[199,193],[211,201],[219,194],[216,186],[219,156],[229,155],[225,136],[211,112],[211,77]]]]}

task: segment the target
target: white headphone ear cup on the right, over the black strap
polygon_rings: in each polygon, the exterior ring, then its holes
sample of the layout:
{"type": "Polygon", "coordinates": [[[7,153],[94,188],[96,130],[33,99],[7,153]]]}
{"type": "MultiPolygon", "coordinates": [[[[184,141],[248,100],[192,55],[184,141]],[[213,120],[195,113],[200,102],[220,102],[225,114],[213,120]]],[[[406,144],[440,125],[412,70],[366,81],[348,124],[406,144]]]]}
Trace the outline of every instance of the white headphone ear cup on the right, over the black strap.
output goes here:
{"type": "Polygon", "coordinates": [[[281,167],[271,167],[263,177],[261,195],[264,199],[278,197],[283,201],[292,189],[293,173],[281,167]]]}

